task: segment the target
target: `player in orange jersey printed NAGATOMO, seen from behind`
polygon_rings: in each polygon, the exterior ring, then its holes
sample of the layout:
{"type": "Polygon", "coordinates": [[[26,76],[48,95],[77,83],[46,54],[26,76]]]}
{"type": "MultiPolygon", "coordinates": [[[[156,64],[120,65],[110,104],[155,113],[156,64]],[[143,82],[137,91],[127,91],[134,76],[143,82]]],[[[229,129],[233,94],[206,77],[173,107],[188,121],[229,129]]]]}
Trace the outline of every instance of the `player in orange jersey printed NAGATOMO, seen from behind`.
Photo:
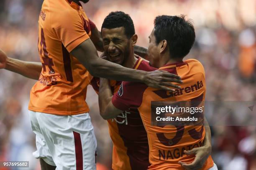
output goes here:
{"type": "MultiPolygon", "coordinates": [[[[108,37],[105,35],[106,33],[111,30],[118,31],[118,29],[120,28],[106,30],[102,28],[102,37],[108,37]]],[[[121,30],[119,32],[121,34],[121,30]]],[[[195,41],[195,30],[192,24],[183,16],[162,15],[156,17],[155,27],[149,40],[148,58],[150,62],[137,60],[140,63],[136,63],[136,68],[151,70],[151,66],[154,66],[160,70],[177,74],[182,77],[182,88],[172,93],[151,88],[139,82],[122,82],[118,92],[112,96],[108,80],[101,78],[100,114],[105,119],[110,119],[123,111],[138,110],[148,135],[149,162],[151,164],[148,169],[215,170],[216,167],[211,157],[206,157],[206,162],[199,163],[201,160],[197,155],[199,153],[197,147],[202,146],[204,142],[208,143],[206,145],[210,145],[210,141],[205,140],[209,138],[207,137],[209,134],[206,135],[203,125],[176,127],[151,125],[151,101],[190,101],[204,100],[205,98],[205,72],[201,63],[194,59],[182,61],[195,41]],[[195,87],[197,82],[199,82],[199,87],[195,87]],[[170,136],[174,136],[174,138],[170,136]],[[192,152],[185,152],[185,150],[191,149],[192,152]]],[[[134,41],[131,39],[131,43],[134,41]]],[[[119,47],[118,44],[114,45],[113,37],[107,42],[104,43],[104,49],[107,48],[106,46],[119,47]]],[[[206,152],[208,151],[206,150],[206,152]]]]}

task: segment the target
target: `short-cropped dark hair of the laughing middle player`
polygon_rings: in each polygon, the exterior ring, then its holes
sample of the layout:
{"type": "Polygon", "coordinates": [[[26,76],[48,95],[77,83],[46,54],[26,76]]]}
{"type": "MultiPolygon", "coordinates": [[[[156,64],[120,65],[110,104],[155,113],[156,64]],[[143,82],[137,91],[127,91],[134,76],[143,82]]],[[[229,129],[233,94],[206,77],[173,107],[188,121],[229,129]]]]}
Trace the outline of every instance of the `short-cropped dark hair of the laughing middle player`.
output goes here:
{"type": "Polygon", "coordinates": [[[133,20],[131,19],[130,15],[125,14],[122,11],[109,13],[102,23],[101,30],[102,28],[112,29],[118,27],[125,28],[125,35],[128,38],[131,38],[135,34],[133,20]]]}

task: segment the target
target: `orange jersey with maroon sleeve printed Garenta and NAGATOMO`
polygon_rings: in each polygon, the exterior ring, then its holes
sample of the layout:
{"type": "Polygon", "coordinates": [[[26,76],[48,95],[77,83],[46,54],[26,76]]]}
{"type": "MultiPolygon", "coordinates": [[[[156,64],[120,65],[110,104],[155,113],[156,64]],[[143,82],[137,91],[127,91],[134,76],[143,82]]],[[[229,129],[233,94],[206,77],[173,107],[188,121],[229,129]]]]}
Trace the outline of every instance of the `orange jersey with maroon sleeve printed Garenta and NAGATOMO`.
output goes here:
{"type": "MultiPolygon", "coordinates": [[[[184,170],[178,163],[191,163],[195,156],[184,154],[202,146],[205,138],[204,126],[156,126],[151,122],[151,102],[203,101],[205,99],[205,71],[194,59],[165,65],[159,68],[182,77],[181,89],[175,92],[157,90],[138,82],[123,82],[123,88],[114,95],[112,102],[120,110],[137,107],[148,135],[150,170],[184,170]]],[[[202,170],[213,166],[209,157],[202,170]]]]}

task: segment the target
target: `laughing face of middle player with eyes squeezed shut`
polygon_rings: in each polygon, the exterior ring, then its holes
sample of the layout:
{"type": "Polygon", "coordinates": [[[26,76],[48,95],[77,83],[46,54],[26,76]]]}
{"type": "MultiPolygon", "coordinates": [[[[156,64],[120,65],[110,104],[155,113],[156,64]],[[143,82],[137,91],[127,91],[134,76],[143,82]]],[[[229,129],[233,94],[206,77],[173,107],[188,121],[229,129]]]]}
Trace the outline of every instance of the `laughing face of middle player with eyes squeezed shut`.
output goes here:
{"type": "Polygon", "coordinates": [[[108,60],[123,65],[130,55],[130,40],[125,35],[124,27],[102,28],[102,39],[108,60]]]}

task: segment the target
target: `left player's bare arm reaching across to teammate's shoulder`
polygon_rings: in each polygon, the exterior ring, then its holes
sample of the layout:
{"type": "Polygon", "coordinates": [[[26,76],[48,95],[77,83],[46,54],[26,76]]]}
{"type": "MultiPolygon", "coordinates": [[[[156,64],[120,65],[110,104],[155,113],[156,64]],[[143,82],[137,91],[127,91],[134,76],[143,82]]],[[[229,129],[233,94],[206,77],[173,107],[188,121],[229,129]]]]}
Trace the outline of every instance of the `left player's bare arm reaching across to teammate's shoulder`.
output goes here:
{"type": "Polygon", "coordinates": [[[133,70],[104,60],[98,57],[97,50],[90,38],[75,47],[74,50],[71,51],[71,54],[87,68],[92,76],[104,77],[111,80],[144,82],[150,87],[172,91],[174,90],[169,87],[180,87],[171,82],[182,82],[178,75],[166,71],[156,70],[153,72],[146,72],[142,70],[133,70]]]}

